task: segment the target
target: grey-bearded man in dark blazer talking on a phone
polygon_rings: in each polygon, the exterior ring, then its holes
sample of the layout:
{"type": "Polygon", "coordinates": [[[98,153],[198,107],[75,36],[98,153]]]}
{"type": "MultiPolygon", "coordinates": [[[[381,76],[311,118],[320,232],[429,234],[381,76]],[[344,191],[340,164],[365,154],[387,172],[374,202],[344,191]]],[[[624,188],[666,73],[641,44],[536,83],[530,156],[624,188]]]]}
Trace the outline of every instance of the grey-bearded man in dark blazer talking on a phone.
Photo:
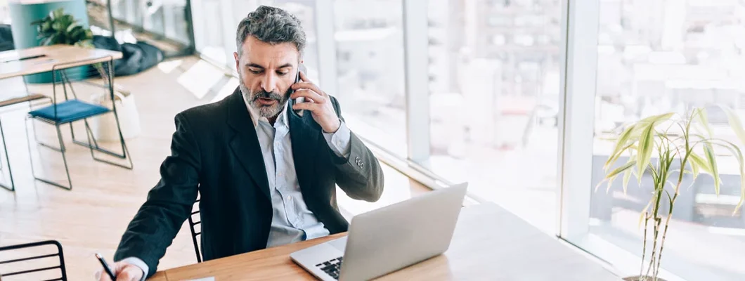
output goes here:
{"type": "Polygon", "coordinates": [[[378,161],[346,127],[336,99],[305,73],[294,83],[305,46],[299,20],[261,6],[238,25],[236,43],[240,86],[176,116],[162,178],[114,255],[117,280],[156,272],[197,193],[204,260],[346,231],[336,185],[351,198],[380,198],[378,161]]]}

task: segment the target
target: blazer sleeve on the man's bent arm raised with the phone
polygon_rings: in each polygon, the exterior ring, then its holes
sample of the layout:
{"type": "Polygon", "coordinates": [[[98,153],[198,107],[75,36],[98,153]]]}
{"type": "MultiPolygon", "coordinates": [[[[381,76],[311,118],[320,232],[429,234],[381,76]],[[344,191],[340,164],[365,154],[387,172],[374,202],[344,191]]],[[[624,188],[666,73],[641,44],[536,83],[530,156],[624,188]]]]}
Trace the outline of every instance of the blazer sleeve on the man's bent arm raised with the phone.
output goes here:
{"type": "MultiPolygon", "coordinates": [[[[341,107],[336,98],[331,98],[334,110],[341,121],[341,107]]],[[[355,135],[349,133],[349,157],[337,157],[331,152],[335,163],[337,185],[350,198],[375,202],[383,193],[383,171],[373,152],[355,135]]]]}

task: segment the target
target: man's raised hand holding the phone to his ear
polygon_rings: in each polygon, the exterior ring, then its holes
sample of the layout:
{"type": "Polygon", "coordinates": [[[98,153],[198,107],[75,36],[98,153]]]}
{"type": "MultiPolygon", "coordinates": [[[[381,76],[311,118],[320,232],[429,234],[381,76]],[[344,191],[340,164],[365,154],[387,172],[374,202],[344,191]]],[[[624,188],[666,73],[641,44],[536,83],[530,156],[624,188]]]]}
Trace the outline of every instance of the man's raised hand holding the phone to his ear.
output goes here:
{"type": "Polygon", "coordinates": [[[295,92],[290,95],[290,98],[304,97],[305,102],[295,104],[292,109],[310,111],[313,119],[321,126],[324,133],[336,133],[336,130],[339,130],[341,121],[336,116],[336,111],[329,95],[308,80],[305,73],[300,72],[300,80],[300,82],[292,85],[292,89],[295,92]]]}

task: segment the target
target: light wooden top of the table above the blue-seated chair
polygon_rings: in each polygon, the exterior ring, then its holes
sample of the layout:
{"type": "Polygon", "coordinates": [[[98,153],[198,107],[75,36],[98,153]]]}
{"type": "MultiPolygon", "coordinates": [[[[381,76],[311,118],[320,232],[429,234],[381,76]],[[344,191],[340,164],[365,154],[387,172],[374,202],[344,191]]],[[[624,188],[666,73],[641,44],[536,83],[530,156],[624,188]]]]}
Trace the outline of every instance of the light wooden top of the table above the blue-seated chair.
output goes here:
{"type": "Polygon", "coordinates": [[[120,59],[121,52],[100,48],[82,48],[74,45],[48,45],[2,51],[0,52],[0,79],[49,72],[55,65],[64,65],[67,68],[102,63],[110,60],[110,57],[113,57],[114,60],[120,59]],[[19,60],[19,58],[42,54],[44,57],[19,60]]]}

